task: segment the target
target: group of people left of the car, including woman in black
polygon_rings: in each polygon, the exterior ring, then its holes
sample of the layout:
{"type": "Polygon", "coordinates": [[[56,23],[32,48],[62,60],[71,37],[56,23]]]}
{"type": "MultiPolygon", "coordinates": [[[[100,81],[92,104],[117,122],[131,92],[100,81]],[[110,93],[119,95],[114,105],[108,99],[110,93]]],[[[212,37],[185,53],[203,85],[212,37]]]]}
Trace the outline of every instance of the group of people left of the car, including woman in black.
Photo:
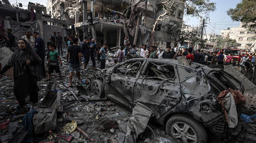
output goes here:
{"type": "MultiPolygon", "coordinates": [[[[15,38],[11,29],[7,29],[5,34],[6,46],[14,47],[15,38]]],[[[37,81],[46,77],[45,71],[45,58],[48,66],[47,80],[51,79],[51,74],[58,73],[61,78],[60,66],[62,66],[61,57],[63,56],[63,47],[67,47],[67,63],[69,68],[69,81],[68,87],[72,86],[72,76],[76,71],[78,80],[80,80],[80,66],[82,59],[85,70],[89,60],[92,61],[92,67],[96,67],[95,57],[99,61],[100,69],[105,68],[106,63],[106,50],[107,45],[102,47],[100,44],[96,44],[95,39],[86,38],[82,42],[78,38],[78,35],[73,37],[71,34],[66,42],[63,42],[61,33],[53,32],[50,36],[49,42],[47,42],[47,48],[45,48],[45,41],[40,37],[38,32],[27,31],[21,39],[18,40],[18,49],[15,50],[11,59],[0,71],[0,78],[3,74],[13,67],[13,79],[14,79],[14,95],[18,100],[17,109],[21,109],[26,105],[26,97],[29,96],[29,101],[34,105],[38,102],[38,85],[37,81]],[[48,51],[46,51],[48,49],[48,51]],[[47,53],[47,54],[46,54],[47,53]]],[[[62,78],[61,78],[62,79],[62,78]]]]}

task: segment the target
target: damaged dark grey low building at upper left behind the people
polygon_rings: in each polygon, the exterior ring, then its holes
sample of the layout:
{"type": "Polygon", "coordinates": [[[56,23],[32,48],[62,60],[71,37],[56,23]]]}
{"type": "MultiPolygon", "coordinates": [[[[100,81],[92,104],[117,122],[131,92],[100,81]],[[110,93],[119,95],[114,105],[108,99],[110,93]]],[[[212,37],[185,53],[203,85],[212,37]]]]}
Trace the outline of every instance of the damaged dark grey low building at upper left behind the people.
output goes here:
{"type": "MultiPolygon", "coordinates": [[[[66,35],[68,22],[53,19],[47,14],[46,7],[38,3],[28,3],[27,9],[0,4],[0,22],[4,30],[10,28],[16,40],[25,35],[25,32],[38,32],[43,39],[49,39],[53,31],[66,35]]],[[[45,40],[45,44],[48,40],[45,40]]]]}

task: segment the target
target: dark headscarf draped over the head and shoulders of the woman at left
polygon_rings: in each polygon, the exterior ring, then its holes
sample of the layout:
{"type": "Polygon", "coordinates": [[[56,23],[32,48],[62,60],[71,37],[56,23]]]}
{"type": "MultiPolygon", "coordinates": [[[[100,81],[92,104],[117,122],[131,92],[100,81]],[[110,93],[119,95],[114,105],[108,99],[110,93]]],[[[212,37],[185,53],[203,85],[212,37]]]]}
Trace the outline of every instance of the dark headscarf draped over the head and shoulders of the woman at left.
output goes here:
{"type": "Polygon", "coordinates": [[[18,78],[19,76],[23,75],[26,72],[26,59],[29,59],[31,63],[28,65],[28,68],[32,75],[37,76],[37,80],[42,79],[42,69],[41,64],[42,59],[33,51],[31,45],[25,39],[23,40],[26,44],[25,49],[18,48],[16,52],[13,53],[12,58],[9,59],[8,65],[13,67],[13,76],[14,79],[18,78]]]}

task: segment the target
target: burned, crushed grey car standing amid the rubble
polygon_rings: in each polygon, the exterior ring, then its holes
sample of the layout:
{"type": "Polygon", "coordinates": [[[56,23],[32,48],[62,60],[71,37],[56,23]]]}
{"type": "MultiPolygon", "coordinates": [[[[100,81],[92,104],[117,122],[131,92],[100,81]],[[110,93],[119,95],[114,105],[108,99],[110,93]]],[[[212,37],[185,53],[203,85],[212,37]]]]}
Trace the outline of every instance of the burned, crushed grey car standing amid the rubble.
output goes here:
{"type": "Polygon", "coordinates": [[[152,110],[166,134],[183,142],[207,142],[206,130],[223,135],[228,125],[216,100],[225,89],[243,84],[221,69],[173,59],[130,59],[104,70],[92,83],[101,97],[134,108],[141,103],[152,110]]]}

